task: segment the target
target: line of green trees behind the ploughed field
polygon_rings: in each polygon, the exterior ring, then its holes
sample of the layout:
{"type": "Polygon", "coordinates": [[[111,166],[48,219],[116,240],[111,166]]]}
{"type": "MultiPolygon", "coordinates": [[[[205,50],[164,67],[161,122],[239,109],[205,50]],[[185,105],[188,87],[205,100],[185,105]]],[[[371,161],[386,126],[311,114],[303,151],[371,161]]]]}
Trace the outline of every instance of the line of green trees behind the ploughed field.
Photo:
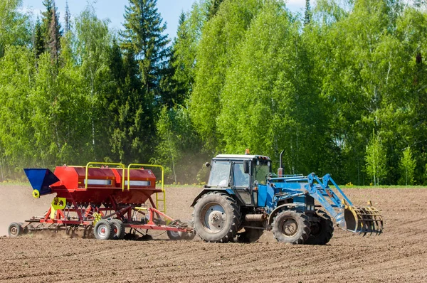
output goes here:
{"type": "Polygon", "coordinates": [[[171,39],[156,0],[130,0],[120,31],[90,6],[61,26],[53,0],[36,19],[1,1],[1,178],[121,161],[194,183],[249,148],[285,149],[286,173],[427,183],[426,1],[284,2],[199,0],[171,39]]]}

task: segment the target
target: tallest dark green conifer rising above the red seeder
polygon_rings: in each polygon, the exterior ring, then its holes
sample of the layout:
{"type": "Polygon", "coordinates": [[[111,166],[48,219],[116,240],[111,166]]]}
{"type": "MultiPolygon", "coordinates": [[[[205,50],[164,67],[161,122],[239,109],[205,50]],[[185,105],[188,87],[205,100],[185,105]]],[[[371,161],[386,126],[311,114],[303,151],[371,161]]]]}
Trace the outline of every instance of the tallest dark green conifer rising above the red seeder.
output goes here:
{"type": "Polygon", "coordinates": [[[170,55],[169,39],[163,34],[166,23],[156,5],[157,0],[130,0],[120,33],[127,78],[112,150],[126,162],[147,161],[156,141],[154,118],[162,101],[160,82],[170,55]]]}

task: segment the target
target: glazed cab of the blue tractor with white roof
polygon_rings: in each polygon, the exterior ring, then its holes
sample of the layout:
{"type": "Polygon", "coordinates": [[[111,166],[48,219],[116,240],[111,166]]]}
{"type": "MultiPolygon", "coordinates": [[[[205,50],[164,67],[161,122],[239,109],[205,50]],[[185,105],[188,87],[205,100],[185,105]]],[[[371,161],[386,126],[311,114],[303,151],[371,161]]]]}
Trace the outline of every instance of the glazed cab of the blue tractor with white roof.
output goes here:
{"type": "Polygon", "coordinates": [[[265,185],[265,176],[271,172],[267,156],[249,154],[218,154],[212,159],[206,188],[230,190],[241,205],[258,205],[258,184],[265,185]]]}

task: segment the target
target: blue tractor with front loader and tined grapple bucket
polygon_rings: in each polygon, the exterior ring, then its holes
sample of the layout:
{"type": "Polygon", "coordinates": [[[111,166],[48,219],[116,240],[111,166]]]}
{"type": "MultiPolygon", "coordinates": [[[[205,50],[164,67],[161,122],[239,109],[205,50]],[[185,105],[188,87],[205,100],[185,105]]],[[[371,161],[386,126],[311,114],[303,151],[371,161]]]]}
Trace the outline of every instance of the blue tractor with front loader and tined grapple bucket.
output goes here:
{"type": "Polygon", "coordinates": [[[353,233],[380,234],[381,214],[370,201],[353,205],[326,174],[284,175],[268,156],[219,154],[209,181],[194,199],[194,230],[206,242],[253,242],[272,230],[278,242],[325,245],[334,225],[353,233]]]}

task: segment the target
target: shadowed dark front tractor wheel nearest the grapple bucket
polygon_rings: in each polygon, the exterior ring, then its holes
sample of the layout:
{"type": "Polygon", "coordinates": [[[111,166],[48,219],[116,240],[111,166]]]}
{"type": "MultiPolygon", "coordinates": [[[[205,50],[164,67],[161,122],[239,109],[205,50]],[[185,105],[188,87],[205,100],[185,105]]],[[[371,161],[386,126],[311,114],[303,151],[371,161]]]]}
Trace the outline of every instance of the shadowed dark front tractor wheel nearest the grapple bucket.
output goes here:
{"type": "Polygon", "coordinates": [[[310,237],[305,242],[308,245],[326,245],[334,234],[334,223],[325,211],[317,210],[317,222],[311,223],[310,237]]]}

